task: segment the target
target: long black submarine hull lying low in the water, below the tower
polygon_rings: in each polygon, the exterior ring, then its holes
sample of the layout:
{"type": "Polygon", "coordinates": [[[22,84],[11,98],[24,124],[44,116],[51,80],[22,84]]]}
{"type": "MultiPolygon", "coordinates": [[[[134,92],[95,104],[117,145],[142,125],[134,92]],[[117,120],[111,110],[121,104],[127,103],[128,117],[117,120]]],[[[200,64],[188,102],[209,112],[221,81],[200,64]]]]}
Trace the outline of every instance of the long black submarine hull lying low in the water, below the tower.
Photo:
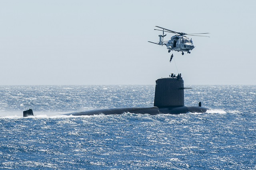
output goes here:
{"type": "Polygon", "coordinates": [[[178,107],[168,107],[168,108],[158,108],[158,107],[139,107],[139,108],[108,108],[99,110],[86,110],[82,112],[73,112],[63,115],[73,115],[73,116],[92,116],[92,115],[110,115],[110,114],[123,114],[123,113],[133,113],[133,114],[184,114],[184,113],[204,113],[208,108],[199,106],[178,106],[178,107]]]}

